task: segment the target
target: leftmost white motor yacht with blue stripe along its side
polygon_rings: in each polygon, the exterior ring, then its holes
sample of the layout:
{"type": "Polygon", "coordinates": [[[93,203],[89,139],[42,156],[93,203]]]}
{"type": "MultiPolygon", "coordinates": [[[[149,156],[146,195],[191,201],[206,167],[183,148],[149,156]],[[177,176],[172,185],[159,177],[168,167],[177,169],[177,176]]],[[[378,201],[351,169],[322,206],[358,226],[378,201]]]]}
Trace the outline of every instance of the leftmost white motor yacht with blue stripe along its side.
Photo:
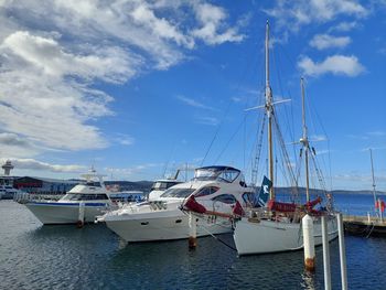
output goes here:
{"type": "Polygon", "coordinates": [[[112,206],[103,176],[82,175],[86,181],[74,186],[58,201],[21,201],[43,224],[93,223],[97,215],[112,206]]]}

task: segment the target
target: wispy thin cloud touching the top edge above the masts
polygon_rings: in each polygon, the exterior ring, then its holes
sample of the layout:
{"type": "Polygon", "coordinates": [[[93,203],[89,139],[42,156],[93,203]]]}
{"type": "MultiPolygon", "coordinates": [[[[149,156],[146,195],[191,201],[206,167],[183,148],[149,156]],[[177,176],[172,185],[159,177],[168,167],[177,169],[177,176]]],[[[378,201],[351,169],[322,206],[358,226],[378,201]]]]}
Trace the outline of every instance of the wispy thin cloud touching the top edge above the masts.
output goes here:
{"type": "Polygon", "coordinates": [[[361,19],[369,13],[355,0],[277,0],[274,8],[264,11],[276,19],[279,29],[292,32],[305,24],[332,21],[339,15],[361,19]]]}

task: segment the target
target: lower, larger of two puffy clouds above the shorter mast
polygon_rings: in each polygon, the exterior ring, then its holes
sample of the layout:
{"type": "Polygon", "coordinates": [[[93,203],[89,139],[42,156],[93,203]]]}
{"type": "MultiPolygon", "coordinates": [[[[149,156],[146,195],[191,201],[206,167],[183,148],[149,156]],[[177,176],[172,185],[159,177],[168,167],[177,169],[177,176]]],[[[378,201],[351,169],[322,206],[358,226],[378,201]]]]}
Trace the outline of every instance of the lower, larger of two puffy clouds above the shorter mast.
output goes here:
{"type": "Polygon", "coordinates": [[[304,75],[320,76],[331,73],[333,75],[357,76],[365,71],[357,57],[345,55],[333,55],[326,57],[321,63],[313,62],[310,57],[303,56],[298,62],[298,66],[304,75]]]}

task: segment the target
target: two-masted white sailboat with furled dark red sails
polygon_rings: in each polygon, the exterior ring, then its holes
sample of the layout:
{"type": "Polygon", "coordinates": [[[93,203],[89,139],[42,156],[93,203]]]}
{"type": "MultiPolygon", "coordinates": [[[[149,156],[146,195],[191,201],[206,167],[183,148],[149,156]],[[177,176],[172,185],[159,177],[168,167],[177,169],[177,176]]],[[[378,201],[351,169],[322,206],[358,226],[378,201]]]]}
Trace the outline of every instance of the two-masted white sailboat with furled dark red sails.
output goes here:
{"type": "Polygon", "coordinates": [[[269,83],[269,23],[266,25],[266,115],[268,117],[268,164],[269,181],[266,185],[266,192],[269,191],[269,201],[265,207],[250,208],[248,213],[242,216],[235,223],[234,240],[238,255],[266,254],[277,251],[297,250],[303,247],[301,217],[308,213],[313,218],[313,235],[315,245],[322,244],[321,216],[328,218],[329,240],[337,236],[337,224],[333,212],[329,210],[315,211],[313,206],[321,202],[310,200],[309,190],[309,158],[312,150],[309,144],[305,112],[304,112],[304,86],[301,80],[302,93],[302,123],[303,133],[300,139],[302,151],[304,153],[305,164],[305,204],[280,203],[275,196],[275,168],[274,168],[274,146],[272,146],[272,118],[275,116],[275,106],[272,90],[269,83]],[[270,185],[270,186],[269,186],[270,185]]]}

